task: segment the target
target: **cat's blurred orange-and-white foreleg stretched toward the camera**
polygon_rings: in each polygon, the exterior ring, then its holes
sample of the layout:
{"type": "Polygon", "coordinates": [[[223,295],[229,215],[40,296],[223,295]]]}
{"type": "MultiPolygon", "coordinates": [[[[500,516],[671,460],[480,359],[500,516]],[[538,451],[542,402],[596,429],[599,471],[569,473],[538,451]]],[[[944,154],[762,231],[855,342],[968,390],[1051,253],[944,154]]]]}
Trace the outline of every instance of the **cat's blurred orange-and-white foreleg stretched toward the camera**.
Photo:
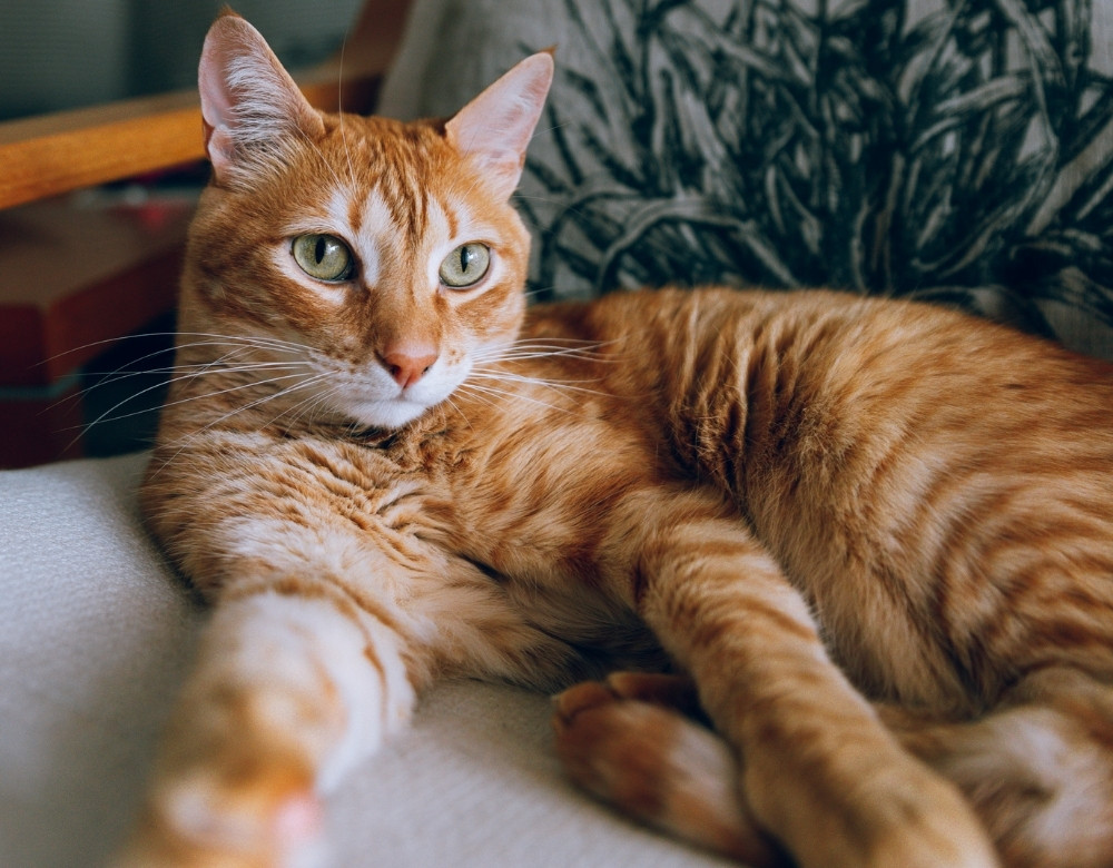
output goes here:
{"type": "Polygon", "coordinates": [[[322,792],[410,718],[400,651],[338,592],[220,601],[120,864],[318,861],[322,792]]]}

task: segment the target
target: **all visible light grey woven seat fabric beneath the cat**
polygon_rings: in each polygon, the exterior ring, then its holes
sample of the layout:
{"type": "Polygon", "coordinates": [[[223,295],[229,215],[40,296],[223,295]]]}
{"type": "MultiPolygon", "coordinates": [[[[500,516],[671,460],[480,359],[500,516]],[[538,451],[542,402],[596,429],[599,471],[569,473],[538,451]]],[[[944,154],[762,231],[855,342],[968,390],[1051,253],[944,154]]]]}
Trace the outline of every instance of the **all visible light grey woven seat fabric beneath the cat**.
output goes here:
{"type": "MultiPolygon", "coordinates": [[[[0,866],[105,861],[204,623],[140,526],[145,462],[0,473],[0,866]]],[[[329,797],[333,864],[720,864],[574,790],[549,717],[534,693],[434,690],[329,797]]]]}

